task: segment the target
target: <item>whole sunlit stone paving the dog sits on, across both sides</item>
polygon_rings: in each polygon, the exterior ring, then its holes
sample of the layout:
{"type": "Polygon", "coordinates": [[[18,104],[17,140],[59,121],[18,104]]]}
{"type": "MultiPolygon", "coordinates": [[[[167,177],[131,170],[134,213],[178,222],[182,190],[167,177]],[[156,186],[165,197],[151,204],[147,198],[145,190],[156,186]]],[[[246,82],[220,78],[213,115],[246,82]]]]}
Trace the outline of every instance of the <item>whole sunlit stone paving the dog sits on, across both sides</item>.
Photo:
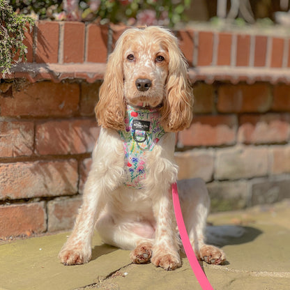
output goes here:
{"type": "MultiPolygon", "coordinates": [[[[210,239],[227,254],[223,266],[201,263],[215,290],[290,289],[289,201],[249,211],[210,215],[210,239]]],[[[0,290],[199,290],[188,259],[174,271],[130,264],[129,251],[93,238],[89,264],[63,266],[57,259],[68,233],[0,245],[0,290]],[[91,286],[87,286],[91,285],[91,286]]]]}

